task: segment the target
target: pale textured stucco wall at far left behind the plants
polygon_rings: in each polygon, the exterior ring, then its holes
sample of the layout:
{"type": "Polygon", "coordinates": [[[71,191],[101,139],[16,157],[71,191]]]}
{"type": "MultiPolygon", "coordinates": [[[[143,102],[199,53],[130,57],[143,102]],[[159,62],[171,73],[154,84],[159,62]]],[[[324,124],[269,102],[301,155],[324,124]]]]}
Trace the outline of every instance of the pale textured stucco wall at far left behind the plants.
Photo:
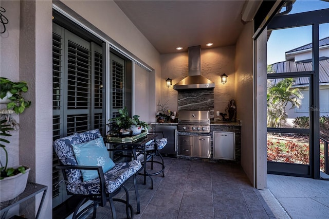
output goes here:
{"type": "MultiPolygon", "coordinates": [[[[20,122],[19,132],[13,133],[9,156],[11,165],[31,168],[29,181],[48,186],[40,217],[52,212],[52,70],[51,70],[51,15],[50,1],[1,1],[9,23],[1,34],[1,76],[14,81],[28,82],[30,108],[15,116],[20,122]]],[[[1,106],[3,107],[3,106],[1,106]]],[[[20,213],[35,216],[41,194],[22,204],[20,213]]],[[[9,213],[8,216],[10,216],[9,213]]]]}

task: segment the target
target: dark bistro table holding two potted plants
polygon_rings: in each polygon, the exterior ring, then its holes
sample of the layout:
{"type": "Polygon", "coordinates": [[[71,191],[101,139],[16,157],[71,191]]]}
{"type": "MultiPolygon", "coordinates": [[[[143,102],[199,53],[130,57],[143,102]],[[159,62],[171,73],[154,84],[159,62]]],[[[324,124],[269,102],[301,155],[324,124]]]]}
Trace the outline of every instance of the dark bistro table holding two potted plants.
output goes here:
{"type": "Polygon", "coordinates": [[[153,179],[151,176],[159,174],[161,172],[163,172],[163,170],[156,172],[156,173],[148,173],[147,169],[146,169],[146,164],[147,161],[150,157],[148,157],[148,154],[145,151],[145,144],[148,143],[149,141],[154,140],[155,145],[154,147],[157,148],[156,145],[156,137],[157,134],[148,134],[145,137],[142,137],[140,139],[137,139],[135,141],[132,142],[114,142],[114,141],[108,141],[105,140],[105,143],[109,144],[109,148],[107,149],[107,151],[118,151],[118,152],[132,152],[132,155],[120,155],[122,157],[130,157],[133,159],[137,159],[139,155],[143,155],[143,173],[139,173],[140,175],[144,176],[144,185],[146,184],[146,177],[149,176],[151,179],[151,189],[153,189],[153,179]]]}

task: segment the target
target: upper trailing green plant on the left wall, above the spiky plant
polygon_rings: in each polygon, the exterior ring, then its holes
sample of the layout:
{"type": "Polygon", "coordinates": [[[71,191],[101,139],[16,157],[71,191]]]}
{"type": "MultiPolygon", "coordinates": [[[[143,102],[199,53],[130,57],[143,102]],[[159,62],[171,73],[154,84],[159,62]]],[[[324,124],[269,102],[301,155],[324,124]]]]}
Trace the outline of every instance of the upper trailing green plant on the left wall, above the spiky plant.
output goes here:
{"type": "Polygon", "coordinates": [[[23,93],[26,93],[28,90],[26,82],[12,82],[8,78],[1,77],[0,86],[1,99],[4,99],[8,92],[12,94],[12,96],[8,98],[10,102],[7,103],[7,109],[13,109],[16,114],[21,114],[24,112],[25,108],[30,107],[31,101],[26,100],[23,96],[23,93]]]}

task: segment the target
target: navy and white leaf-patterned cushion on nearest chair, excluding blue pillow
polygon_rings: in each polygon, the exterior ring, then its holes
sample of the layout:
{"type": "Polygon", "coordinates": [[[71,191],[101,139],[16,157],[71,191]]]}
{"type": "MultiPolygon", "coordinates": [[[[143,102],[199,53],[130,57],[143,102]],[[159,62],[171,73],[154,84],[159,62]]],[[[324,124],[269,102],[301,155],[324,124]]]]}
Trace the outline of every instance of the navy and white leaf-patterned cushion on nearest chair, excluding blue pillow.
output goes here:
{"type": "MultiPolygon", "coordinates": [[[[99,130],[91,130],[83,133],[75,133],[64,138],[57,139],[53,142],[53,148],[63,165],[78,165],[74,151],[71,144],[78,144],[88,142],[102,137],[99,130]]],[[[122,183],[137,173],[141,168],[139,160],[130,162],[116,163],[116,166],[111,170],[104,173],[106,192],[111,193],[115,191],[122,183]]],[[[74,194],[99,194],[99,178],[89,181],[83,181],[80,170],[67,170],[66,171],[67,191],[74,194]],[[95,184],[96,183],[96,184],[95,184]]]]}

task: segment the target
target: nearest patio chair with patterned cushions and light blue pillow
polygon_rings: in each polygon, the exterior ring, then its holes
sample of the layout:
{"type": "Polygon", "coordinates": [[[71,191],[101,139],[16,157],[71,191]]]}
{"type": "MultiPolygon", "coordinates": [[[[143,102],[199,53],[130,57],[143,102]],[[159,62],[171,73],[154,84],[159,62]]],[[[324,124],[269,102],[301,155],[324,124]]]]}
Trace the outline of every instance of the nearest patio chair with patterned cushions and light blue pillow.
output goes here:
{"type": "Polygon", "coordinates": [[[53,142],[53,148],[60,159],[61,165],[57,168],[62,169],[67,193],[83,196],[72,218],[78,218],[92,207],[93,218],[96,218],[97,206],[104,207],[107,202],[111,207],[113,218],[116,218],[114,201],[124,203],[127,218],[132,218],[134,212],[129,204],[129,193],[124,186],[131,178],[135,187],[137,214],[140,212],[136,175],[142,165],[139,160],[114,163],[109,158],[99,130],[75,133],[57,139],[53,142]],[[121,188],[125,191],[125,200],[114,198],[121,188]],[[93,202],[78,213],[86,200],[93,202]]]}

